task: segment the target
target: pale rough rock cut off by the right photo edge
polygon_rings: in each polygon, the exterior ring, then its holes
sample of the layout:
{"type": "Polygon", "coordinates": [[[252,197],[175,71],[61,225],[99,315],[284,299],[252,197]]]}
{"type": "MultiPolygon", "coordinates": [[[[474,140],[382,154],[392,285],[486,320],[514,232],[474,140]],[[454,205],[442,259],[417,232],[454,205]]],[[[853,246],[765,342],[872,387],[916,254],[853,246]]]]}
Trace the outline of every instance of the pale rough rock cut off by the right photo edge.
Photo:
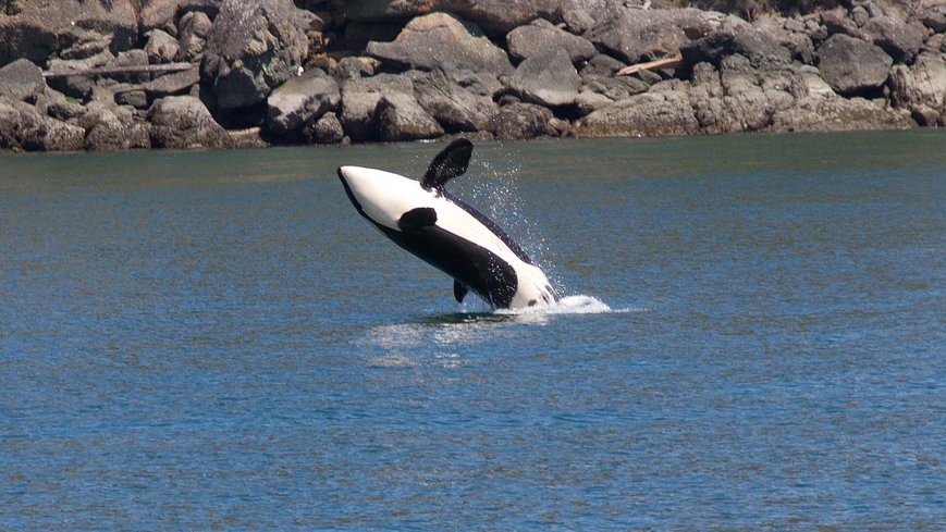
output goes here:
{"type": "Polygon", "coordinates": [[[890,100],[898,108],[926,108],[938,116],[946,110],[946,54],[923,52],[912,66],[895,65],[890,71],[890,100]]]}

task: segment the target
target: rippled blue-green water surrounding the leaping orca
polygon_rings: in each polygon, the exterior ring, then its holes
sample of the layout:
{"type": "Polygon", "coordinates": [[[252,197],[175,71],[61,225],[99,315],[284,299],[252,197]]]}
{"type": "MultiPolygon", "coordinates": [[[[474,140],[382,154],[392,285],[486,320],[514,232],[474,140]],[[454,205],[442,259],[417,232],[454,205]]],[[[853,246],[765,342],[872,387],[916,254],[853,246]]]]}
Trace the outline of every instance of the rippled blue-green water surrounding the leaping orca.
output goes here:
{"type": "Polygon", "coordinates": [[[0,529],[942,531],[944,140],[478,145],[520,314],[334,176],[439,146],[2,156],[0,529]]]}

